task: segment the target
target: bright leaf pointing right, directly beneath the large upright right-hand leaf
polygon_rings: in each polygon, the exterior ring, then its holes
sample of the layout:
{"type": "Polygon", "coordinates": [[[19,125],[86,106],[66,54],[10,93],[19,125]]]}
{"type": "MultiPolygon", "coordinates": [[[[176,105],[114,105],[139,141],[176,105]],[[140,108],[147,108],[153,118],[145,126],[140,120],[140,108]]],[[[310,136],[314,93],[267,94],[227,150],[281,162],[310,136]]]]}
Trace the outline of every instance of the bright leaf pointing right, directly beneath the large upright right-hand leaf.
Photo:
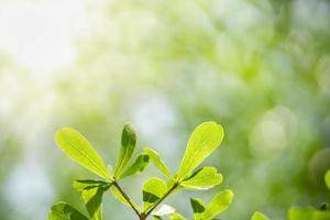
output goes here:
{"type": "Polygon", "coordinates": [[[189,189],[209,189],[222,182],[222,175],[217,168],[206,166],[195,172],[190,177],[182,182],[182,186],[189,189]]]}

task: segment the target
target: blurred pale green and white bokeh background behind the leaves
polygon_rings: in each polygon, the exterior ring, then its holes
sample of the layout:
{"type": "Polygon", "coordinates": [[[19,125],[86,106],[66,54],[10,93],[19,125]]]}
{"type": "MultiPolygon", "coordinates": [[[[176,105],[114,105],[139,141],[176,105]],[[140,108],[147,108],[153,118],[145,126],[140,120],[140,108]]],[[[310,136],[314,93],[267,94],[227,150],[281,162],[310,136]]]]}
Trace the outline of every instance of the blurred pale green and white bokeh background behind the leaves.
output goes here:
{"type": "MultiPolygon", "coordinates": [[[[55,146],[84,133],[114,165],[125,122],[173,172],[194,128],[226,129],[206,164],[224,176],[167,204],[234,191],[221,219],[286,219],[292,205],[330,201],[330,1],[0,0],[0,217],[46,219],[52,204],[84,210],[72,182],[96,178],[55,146]]],[[[135,200],[148,174],[124,180],[135,200]]],[[[160,176],[160,175],[158,175],[160,176]]],[[[105,198],[106,219],[134,213],[105,198]]]]}

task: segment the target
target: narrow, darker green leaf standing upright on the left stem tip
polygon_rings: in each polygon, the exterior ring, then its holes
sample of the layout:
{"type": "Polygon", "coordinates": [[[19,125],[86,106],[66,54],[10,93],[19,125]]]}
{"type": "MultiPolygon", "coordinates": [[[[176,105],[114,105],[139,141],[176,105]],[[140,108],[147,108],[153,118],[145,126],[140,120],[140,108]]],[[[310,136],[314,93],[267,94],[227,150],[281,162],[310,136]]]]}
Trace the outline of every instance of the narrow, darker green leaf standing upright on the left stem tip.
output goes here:
{"type": "Polygon", "coordinates": [[[136,144],[136,133],[131,124],[125,124],[121,135],[119,158],[114,167],[114,177],[119,178],[123,168],[128,165],[136,144]]]}

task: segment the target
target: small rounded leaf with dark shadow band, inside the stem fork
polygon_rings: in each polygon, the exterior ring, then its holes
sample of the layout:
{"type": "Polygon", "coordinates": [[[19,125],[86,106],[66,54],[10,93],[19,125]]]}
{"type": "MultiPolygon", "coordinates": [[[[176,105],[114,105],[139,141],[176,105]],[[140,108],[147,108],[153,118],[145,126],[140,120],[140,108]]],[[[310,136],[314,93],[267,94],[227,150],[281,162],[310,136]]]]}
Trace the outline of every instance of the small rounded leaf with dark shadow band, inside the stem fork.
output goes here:
{"type": "Polygon", "coordinates": [[[143,208],[148,210],[167,191],[166,183],[160,178],[153,177],[145,182],[143,186],[143,208]]]}

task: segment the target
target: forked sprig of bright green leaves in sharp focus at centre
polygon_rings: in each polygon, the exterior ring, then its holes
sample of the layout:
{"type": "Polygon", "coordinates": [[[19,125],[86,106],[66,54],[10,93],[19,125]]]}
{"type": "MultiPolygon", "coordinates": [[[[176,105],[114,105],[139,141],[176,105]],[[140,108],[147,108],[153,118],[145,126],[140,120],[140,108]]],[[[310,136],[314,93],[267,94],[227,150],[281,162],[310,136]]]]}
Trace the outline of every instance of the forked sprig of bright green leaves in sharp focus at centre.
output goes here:
{"type": "MultiPolygon", "coordinates": [[[[122,131],[120,153],[112,174],[101,156],[78,131],[64,128],[55,135],[56,144],[69,158],[102,178],[102,180],[74,182],[74,187],[81,193],[86,209],[92,220],[102,219],[102,196],[107,190],[110,190],[120,202],[131,207],[140,220],[145,220],[150,216],[153,219],[164,217],[172,220],[185,219],[173,207],[162,202],[179,189],[206,190],[221,184],[222,175],[216,167],[206,166],[197,170],[196,168],[220,145],[222,139],[223,129],[220,124],[209,121],[198,125],[188,140],[178,170],[172,175],[158,153],[150,147],[145,147],[144,153],[141,153],[129,166],[136,145],[136,133],[131,124],[127,124],[122,131]],[[161,170],[165,179],[152,177],[144,183],[143,208],[141,208],[124,193],[120,180],[143,172],[150,161],[161,170]]],[[[208,205],[205,205],[200,198],[191,198],[194,218],[196,220],[215,218],[230,206],[232,198],[233,193],[229,189],[218,193],[208,205]]],[[[88,218],[70,205],[58,202],[52,207],[48,219],[88,218]]]]}

